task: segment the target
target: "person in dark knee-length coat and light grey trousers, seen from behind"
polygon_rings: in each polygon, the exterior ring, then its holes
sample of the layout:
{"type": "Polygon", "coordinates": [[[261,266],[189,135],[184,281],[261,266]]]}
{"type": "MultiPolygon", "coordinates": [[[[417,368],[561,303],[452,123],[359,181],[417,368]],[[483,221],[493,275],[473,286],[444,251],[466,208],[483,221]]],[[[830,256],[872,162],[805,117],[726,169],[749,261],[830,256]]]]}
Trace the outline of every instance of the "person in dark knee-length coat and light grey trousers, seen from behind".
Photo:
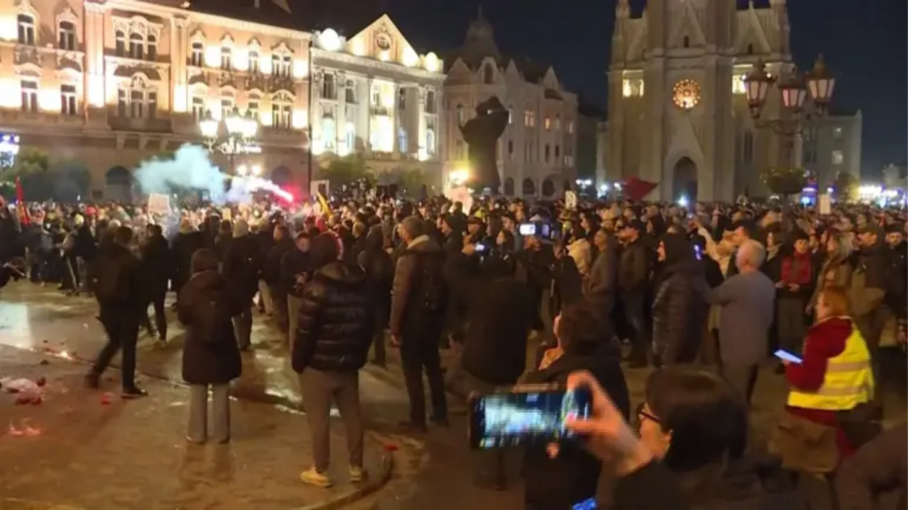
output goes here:
{"type": "Polygon", "coordinates": [[[177,318],[186,326],[183,380],[190,385],[186,440],[208,439],[208,390],[212,392],[212,439],[230,441],[230,382],[242,372],[232,317],[244,302],[218,272],[218,257],[207,248],[192,254],[192,276],[180,289],[177,318]]]}

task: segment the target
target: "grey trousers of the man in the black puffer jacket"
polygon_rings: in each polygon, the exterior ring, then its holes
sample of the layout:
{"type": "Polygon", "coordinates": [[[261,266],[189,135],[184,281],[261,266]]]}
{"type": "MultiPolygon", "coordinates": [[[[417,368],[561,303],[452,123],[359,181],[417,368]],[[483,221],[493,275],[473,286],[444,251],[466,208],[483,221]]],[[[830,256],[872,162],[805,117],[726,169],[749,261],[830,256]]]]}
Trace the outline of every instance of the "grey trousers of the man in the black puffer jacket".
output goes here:
{"type": "Polygon", "coordinates": [[[360,416],[360,373],[328,372],[306,368],[300,374],[302,401],[309,418],[315,470],[324,473],[331,461],[329,417],[331,403],[341,411],[347,430],[350,467],[362,467],[362,417],[360,416]]]}

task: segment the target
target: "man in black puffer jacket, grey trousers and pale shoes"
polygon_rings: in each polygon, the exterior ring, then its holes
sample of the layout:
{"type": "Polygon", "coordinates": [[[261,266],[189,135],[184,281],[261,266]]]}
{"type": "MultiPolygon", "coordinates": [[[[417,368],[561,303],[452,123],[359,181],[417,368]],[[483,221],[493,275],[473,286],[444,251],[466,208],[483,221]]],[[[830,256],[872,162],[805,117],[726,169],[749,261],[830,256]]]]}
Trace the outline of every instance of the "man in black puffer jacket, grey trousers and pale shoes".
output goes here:
{"type": "Polygon", "coordinates": [[[315,466],[300,477],[321,487],[331,486],[328,418],[332,401],[347,430],[350,481],[359,482],[364,476],[359,370],[369,355],[375,312],[365,271],[339,260],[340,254],[335,235],[320,234],[312,240],[311,261],[319,269],[302,289],[292,347],[293,370],[300,374],[315,458],[315,466]]]}

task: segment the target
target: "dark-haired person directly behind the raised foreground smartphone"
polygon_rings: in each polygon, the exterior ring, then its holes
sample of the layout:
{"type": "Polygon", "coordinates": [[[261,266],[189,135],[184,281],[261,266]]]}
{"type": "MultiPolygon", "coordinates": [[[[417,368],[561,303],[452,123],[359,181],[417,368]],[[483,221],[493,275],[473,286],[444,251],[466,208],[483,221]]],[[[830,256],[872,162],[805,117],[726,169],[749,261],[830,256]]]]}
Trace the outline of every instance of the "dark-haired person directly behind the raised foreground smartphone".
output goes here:
{"type": "MultiPolygon", "coordinates": [[[[621,417],[630,416],[630,396],[620,353],[601,341],[597,310],[584,301],[568,305],[555,318],[558,345],[546,351],[538,368],[522,382],[566,384],[568,376],[587,371],[607,391],[621,417]]],[[[528,446],[521,475],[527,510],[568,509],[597,494],[602,465],[582,444],[528,446]],[[553,448],[557,449],[556,452],[553,448]]]]}

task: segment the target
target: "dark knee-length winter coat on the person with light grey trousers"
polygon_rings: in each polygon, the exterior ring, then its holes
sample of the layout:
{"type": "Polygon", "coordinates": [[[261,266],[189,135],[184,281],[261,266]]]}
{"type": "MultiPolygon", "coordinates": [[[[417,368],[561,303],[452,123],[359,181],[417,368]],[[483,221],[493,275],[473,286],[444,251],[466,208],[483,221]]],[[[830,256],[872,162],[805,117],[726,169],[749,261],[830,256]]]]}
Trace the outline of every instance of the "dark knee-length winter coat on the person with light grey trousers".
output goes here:
{"type": "Polygon", "coordinates": [[[193,274],[180,289],[177,318],[186,326],[183,380],[187,383],[226,384],[240,377],[242,361],[231,321],[241,311],[237,298],[217,270],[193,274]]]}

